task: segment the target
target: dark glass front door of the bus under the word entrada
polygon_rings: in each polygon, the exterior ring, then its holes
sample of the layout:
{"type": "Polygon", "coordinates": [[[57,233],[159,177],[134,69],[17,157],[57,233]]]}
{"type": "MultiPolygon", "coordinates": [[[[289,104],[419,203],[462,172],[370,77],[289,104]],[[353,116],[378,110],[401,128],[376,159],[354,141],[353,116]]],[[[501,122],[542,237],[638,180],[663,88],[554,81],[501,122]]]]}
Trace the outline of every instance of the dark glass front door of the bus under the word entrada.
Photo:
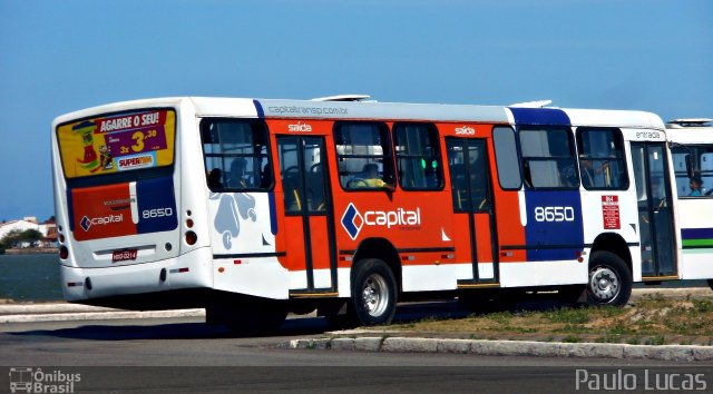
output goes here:
{"type": "Polygon", "coordinates": [[[664,142],[632,142],[644,280],[677,274],[665,151],[664,142]]]}

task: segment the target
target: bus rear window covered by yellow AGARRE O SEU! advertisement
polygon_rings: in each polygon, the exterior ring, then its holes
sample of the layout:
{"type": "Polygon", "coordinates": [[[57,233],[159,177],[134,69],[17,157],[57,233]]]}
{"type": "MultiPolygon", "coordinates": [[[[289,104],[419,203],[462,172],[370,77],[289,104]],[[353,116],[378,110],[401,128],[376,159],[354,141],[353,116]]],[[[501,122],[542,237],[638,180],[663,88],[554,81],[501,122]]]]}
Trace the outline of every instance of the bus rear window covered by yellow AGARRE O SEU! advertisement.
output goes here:
{"type": "Polygon", "coordinates": [[[172,109],[109,114],[57,127],[68,179],[170,166],[175,135],[172,109]]]}

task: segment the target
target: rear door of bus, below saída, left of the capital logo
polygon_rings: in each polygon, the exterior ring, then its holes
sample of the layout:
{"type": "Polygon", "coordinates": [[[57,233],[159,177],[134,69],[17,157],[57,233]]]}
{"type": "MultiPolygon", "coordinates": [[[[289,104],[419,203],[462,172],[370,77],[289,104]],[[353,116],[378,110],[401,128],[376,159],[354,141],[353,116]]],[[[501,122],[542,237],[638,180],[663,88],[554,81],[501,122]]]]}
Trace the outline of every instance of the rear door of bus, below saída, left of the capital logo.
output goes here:
{"type": "Polygon", "coordinates": [[[333,293],[336,249],[323,137],[279,136],[290,294],[333,293]]]}

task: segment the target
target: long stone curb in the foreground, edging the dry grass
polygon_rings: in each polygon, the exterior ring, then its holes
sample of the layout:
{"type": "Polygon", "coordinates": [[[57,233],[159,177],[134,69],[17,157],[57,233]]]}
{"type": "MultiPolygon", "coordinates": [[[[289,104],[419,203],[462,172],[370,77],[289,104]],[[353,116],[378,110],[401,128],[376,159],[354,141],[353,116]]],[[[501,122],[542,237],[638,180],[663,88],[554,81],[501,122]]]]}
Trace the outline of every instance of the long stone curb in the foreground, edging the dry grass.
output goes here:
{"type": "Polygon", "coordinates": [[[534,341],[359,337],[293,339],[279,347],[384,353],[456,353],[482,356],[596,357],[663,361],[713,361],[712,346],[553,343],[534,341]]]}

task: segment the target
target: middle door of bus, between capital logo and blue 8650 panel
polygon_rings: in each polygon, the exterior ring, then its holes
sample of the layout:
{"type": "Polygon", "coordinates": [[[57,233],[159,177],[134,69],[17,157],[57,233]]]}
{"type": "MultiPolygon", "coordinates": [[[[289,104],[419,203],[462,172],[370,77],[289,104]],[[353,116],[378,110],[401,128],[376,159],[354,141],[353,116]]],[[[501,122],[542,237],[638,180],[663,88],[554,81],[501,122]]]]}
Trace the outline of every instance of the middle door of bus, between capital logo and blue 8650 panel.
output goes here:
{"type": "Polygon", "coordinates": [[[447,138],[453,199],[457,258],[472,262],[472,280],[459,285],[498,283],[497,232],[492,209],[486,140],[447,138]],[[458,250],[467,250],[465,254],[458,250]]]}

